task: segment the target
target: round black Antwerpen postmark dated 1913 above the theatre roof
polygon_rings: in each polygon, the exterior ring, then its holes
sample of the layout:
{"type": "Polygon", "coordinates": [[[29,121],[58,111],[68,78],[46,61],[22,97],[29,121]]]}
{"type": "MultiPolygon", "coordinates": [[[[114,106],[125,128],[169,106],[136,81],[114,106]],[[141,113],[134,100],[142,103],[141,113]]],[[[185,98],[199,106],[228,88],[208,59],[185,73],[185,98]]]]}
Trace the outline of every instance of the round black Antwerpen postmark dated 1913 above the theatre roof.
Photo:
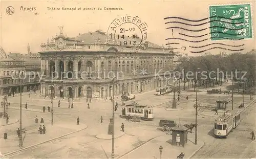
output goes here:
{"type": "Polygon", "coordinates": [[[147,24],[138,16],[120,16],[111,22],[107,33],[120,46],[139,47],[147,38],[147,24]]]}

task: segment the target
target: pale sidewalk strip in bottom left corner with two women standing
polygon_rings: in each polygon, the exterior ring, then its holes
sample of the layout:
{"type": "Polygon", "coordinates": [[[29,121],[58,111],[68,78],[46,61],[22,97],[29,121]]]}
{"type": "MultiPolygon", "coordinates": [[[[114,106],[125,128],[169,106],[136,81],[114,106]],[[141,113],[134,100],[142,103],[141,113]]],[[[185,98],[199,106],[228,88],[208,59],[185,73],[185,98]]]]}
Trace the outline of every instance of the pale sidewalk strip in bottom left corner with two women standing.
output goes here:
{"type": "MultiPolygon", "coordinates": [[[[34,129],[28,130],[27,132],[23,133],[23,148],[45,141],[49,142],[54,138],[61,137],[62,135],[66,135],[87,128],[87,125],[85,124],[76,125],[74,123],[54,123],[53,126],[51,124],[46,124],[45,126],[46,134],[38,133],[39,124],[34,129]]],[[[4,155],[20,149],[18,146],[19,139],[17,137],[17,134],[8,135],[8,138],[6,140],[1,138],[0,143],[0,151],[4,155]]]]}

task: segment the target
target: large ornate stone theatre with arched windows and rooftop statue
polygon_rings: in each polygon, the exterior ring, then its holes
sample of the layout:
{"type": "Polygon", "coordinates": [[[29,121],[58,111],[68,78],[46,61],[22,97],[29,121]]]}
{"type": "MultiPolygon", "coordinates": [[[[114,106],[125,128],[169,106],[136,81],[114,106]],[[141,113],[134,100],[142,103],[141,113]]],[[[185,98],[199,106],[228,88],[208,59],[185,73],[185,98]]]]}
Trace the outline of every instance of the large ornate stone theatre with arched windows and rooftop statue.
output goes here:
{"type": "Polygon", "coordinates": [[[173,70],[174,53],[170,49],[147,41],[137,48],[117,43],[102,31],[74,38],[60,31],[42,43],[41,94],[108,98],[113,93],[145,92],[172,83],[169,72],[173,70]]]}

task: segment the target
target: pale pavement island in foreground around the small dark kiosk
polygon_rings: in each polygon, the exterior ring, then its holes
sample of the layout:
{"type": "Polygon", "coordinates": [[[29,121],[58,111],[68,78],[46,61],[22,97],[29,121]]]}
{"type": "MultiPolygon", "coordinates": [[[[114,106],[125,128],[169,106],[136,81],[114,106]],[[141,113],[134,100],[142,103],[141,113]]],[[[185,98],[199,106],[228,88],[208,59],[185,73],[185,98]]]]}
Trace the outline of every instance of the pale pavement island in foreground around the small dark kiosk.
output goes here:
{"type": "Polygon", "coordinates": [[[159,158],[160,146],[163,147],[162,158],[177,158],[181,152],[185,153],[184,158],[189,158],[201,149],[203,145],[204,142],[202,141],[198,141],[198,145],[188,141],[184,148],[177,147],[172,145],[172,135],[163,135],[117,158],[159,158]]]}

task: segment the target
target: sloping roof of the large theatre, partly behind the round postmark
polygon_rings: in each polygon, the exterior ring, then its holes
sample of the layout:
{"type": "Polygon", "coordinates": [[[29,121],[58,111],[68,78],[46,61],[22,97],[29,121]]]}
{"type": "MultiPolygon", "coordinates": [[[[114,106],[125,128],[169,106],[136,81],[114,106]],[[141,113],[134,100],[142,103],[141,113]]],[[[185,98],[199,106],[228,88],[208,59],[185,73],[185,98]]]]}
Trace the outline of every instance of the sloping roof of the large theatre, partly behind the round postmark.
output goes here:
{"type": "MultiPolygon", "coordinates": [[[[92,44],[95,43],[95,39],[99,38],[100,41],[102,43],[104,43],[107,38],[109,37],[108,34],[106,34],[105,32],[101,31],[101,30],[97,30],[95,32],[88,32],[88,33],[84,33],[84,34],[80,34],[78,36],[76,36],[77,39],[82,40],[83,43],[88,43],[88,44],[92,44]]],[[[75,37],[73,37],[75,38],[75,37]]],[[[72,38],[71,38],[72,39],[72,38]]],[[[126,41],[137,41],[137,43],[140,43],[141,39],[133,39],[132,37],[124,37],[124,39],[126,39],[126,41]]],[[[122,41],[124,40],[122,39],[122,41]]],[[[116,43],[119,44],[120,40],[116,39],[116,43]]],[[[161,46],[159,46],[156,43],[152,43],[149,42],[148,43],[153,47],[153,48],[160,48],[161,46]]]]}

